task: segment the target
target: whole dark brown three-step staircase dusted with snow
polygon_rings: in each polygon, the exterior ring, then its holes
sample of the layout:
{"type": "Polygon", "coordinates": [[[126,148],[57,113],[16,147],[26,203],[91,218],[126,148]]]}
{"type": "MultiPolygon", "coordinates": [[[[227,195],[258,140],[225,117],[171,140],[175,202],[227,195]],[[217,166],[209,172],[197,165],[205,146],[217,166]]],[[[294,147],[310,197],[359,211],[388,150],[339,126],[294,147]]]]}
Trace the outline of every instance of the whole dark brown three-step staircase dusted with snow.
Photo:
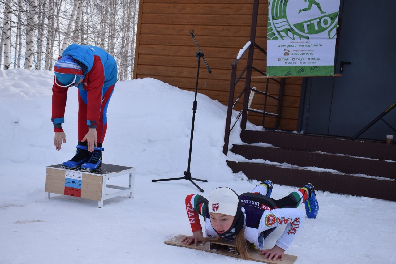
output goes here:
{"type": "Polygon", "coordinates": [[[227,161],[234,173],[288,186],[311,182],[317,190],[396,201],[395,144],[248,130],[241,139],[248,144],[234,144],[231,152],[280,164],[227,161]],[[251,145],[258,142],[274,147],[251,145]]]}

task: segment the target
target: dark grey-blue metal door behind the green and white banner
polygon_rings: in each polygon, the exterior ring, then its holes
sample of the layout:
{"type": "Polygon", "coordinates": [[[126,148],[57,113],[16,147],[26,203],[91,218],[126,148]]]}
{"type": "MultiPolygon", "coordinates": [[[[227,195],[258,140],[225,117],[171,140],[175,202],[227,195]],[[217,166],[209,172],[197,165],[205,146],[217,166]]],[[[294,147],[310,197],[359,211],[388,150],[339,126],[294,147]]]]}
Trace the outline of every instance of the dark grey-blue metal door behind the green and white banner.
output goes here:
{"type": "MultiPolygon", "coordinates": [[[[307,78],[301,130],[352,137],[396,101],[395,9],[396,1],[341,0],[335,73],[342,76],[307,78]],[[341,61],[351,63],[343,72],[341,61]]],[[[396,128],[395,109],[383,119],[396,128]]],[[[360,138],[386,134],[395,131],[380,120],[360,138]]]]}

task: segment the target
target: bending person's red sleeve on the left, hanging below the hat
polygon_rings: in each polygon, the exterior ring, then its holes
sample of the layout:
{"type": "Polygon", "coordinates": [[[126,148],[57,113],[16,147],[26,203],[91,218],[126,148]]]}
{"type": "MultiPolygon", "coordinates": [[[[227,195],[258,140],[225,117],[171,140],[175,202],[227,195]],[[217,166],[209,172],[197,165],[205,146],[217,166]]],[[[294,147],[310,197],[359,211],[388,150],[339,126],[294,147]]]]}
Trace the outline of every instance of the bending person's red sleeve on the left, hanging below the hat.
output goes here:
{"type": "MultiPolygon", "coordinates": [[[[54,124],[61,124],[65,122],[65,107],[67,99],[67,87],[60,87],[54,82],[52,85],[52,114],[51,121],[54,124]]],[[[54,132],[63,132],[62,128],[54,128],[54,132]]]]}

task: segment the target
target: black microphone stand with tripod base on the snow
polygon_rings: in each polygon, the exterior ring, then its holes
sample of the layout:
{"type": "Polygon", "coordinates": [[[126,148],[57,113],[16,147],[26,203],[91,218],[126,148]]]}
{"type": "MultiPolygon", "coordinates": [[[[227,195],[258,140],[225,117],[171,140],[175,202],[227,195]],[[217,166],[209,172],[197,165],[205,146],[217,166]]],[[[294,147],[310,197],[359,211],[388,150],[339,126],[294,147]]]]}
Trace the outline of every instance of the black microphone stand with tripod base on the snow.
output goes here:
{"type": "Polygon", "coordinates": [[[190,151],[188,152],[187,171],[184,172],[184,177],[160,179],[160,180],[151,180],[151,182],[161,182],[161,181],[165,181],[165,180],[189,180],[192,184],[195,185],[196,188],[198,188],[198,190],[200,190],[200,192],[204,192],[204,190],[201,189],[192,180],[198,180],[198,181],[201,181],[201,182],[208,182],[208,180],[201,180],[201,179],[197,179],[197,178],[192,178],[191,177],[191,173],[190,173],[191,151],[192,151],[192,137],[194,135],[195,111],[197,110],[198,78],[199,78],[199,67],[200,67],[201,58],[204,60],[204,63],[206,64],[206,69],[208,70],[208,72],[211,73],[212,70],[210,69],[208,63],[206,62],[206,59],[204,57],[204,53],[201,51],[200,47],[198,46],[198,43],[195,40],[194,30],[190,30],[190,34],[191,34],[191,38],[194,40],[195,45],[198,48],[198,51],[196,51],[196,53],[195,53],[195,57],[198,58],[198,67],[197,67],[197,77],[196,77],[196,83],[195,83],[195,97],[194,97],[194,103],[192,104],[192,123],[191,123],[190,151]]]}

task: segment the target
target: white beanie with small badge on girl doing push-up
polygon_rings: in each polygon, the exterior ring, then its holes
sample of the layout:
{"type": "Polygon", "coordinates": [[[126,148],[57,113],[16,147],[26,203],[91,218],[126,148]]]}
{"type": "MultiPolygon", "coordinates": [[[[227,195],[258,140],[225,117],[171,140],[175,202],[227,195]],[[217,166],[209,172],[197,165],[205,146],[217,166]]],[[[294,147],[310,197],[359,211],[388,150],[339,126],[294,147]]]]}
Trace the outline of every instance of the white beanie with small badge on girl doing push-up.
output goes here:
{"type": "Polygon", "coordinates": [[[236,215],[239,197],[232,189],[219,187],[214,189],[209,196],[209,213],[236,215]]]}

